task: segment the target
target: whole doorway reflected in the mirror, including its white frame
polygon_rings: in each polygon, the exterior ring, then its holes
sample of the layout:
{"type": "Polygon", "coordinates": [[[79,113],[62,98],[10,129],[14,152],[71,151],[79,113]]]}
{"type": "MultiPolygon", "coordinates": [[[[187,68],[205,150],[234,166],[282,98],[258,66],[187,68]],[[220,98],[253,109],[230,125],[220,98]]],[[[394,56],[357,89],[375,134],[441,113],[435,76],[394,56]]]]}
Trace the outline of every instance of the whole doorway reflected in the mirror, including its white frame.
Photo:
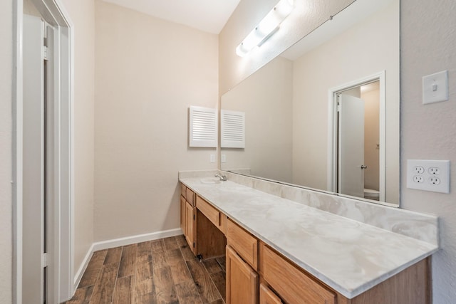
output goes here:
{"type": "Polygon", "coordinates": [[[384,201],[384,73],[333,88],[330,96],[328,189],[384,201]]]}

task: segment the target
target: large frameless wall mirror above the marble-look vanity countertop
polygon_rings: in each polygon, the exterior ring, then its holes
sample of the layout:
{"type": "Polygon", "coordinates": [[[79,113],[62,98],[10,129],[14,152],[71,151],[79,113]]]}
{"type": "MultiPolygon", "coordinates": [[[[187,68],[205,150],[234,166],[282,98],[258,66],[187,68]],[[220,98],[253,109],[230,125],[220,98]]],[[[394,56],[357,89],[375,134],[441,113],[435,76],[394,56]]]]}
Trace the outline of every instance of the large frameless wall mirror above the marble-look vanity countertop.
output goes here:
{"type": "Polygon", "coordinates": [[[356,0],[222,95],[221,169],[399,204],[399,0],[356,0]]]}

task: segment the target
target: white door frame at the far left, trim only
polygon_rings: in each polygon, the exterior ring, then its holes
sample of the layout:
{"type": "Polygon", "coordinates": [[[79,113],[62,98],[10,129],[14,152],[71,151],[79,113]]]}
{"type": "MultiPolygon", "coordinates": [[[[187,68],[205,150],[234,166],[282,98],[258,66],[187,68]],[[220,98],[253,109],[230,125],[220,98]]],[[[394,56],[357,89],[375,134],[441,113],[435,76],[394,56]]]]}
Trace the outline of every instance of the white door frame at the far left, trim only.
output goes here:
{"type": "MultiPolygon", "coordinates": [[[[73,23],[60,0],[31,0],[43,19],[56,27],[54,79],[54,118],[52,132],[56,136],[53,150],[53,265],[54,293],[49,300],[61,303],[73,295],[74,286],[74,136],[73,136],[73,23]]],[[[13,0],[13,303],[22,303],[23,241],[23,38],[22,0],[13,0]]],[[[24,287],[25,288],[25,287],[24,287]]]]}

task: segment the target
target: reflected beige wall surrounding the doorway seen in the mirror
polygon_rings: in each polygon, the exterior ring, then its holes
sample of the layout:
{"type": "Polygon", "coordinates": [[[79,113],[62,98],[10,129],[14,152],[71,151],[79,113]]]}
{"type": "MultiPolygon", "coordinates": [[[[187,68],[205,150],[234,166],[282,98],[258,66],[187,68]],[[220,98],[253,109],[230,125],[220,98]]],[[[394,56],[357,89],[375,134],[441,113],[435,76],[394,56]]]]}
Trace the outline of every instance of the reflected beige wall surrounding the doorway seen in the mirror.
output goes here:
{"type": "Polygon", "coordinates": [[[385,201],[398,202],[398,5],[394,1],[385,10],[294,61],[294,183],[326,189],[328,154],[322,151],[328,151],[328,90],[385,70],[385,201]]]}

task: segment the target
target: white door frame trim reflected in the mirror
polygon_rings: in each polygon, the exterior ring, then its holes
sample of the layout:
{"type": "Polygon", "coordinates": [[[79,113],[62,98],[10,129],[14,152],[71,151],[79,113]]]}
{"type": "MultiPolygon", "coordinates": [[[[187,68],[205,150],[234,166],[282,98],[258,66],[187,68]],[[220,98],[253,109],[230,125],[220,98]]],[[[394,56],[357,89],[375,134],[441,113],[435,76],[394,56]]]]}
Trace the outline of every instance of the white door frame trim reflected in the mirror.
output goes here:
{"type": "MultiPolygon", "coordinates": [[[[366,77],[353,80],[343,85],[330,88],[328,90],[328,167],[327,167],[327,187],[328,191],[336,192],[337,186],[337,167],[338,163],[338,150],[337,150],[337,137],[338,125],[336,123],[337,117],[337,100],[336,95],[343,90],[355,88],[365,83],[371,83],[375,80],[380,81],[380,202],[385,203],[385,70],[378,73],[368,75],[366,77]]],[[[344,196],[343,194],[338,194],[344,196]]],[[[352,197],[352,196],[350,196],[352,197]]],[[[363,199],[356,197],[356,199],[363,199]]]]}

